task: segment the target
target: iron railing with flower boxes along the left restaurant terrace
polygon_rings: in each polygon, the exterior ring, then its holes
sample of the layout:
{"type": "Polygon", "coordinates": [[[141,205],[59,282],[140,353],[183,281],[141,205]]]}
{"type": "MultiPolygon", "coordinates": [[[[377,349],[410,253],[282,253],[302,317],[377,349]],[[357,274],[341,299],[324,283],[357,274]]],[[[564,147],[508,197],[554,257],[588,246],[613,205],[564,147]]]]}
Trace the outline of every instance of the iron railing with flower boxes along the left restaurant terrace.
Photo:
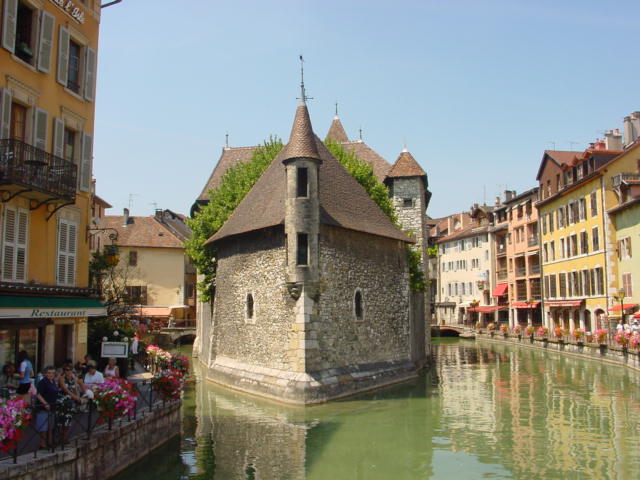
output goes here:
{"type": "MultiPolygon", "coordinates": [[[[33,454],[33,458],[37,458],[39,452],[64,450],[67,446],[73,444],[77,446],[79,442],[89,440],[96,431],[111,430],[114,426],[117,427],[118,425],[135,421],[139,416],[144,416],[146,413],[152,412],[166,403],[151,388],[150,381],[145,380],[133,385],[138,394],[135,408],[126,416],[116,420],[101,419],[100,412],[96,409],[93,401],[76,405],[75,413],[72,414],[68,427],[63,427],[61,424],[60,414],[62,410],[60,406],[52,406],[53,408],[49,411],[39,410],[38,407],[31,408],[33,418],[22,432],[20,441],[9,451],[0,452],[0,461],[12,458],[13,463],[17,463],[20,455],[33,454]],[[46,416],[48,429],[53,431],[53,444],[48,445],[47,449],[44,450],[40,448],[43,439],[36,431],[36,416],[38,413],[46,416]]],[[[41,421],[42,425],[44,425],[44,419],[41,419],[41,421]]]]}

